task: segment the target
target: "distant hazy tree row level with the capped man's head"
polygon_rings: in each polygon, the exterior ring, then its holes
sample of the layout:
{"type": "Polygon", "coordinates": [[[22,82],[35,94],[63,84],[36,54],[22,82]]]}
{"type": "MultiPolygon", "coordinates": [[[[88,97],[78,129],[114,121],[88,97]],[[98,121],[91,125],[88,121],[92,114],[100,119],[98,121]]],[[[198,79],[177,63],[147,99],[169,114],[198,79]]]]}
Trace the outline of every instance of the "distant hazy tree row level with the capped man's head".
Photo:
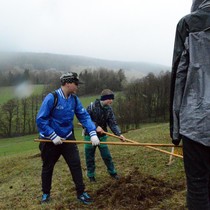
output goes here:
{"type": "MultiPolygon", "coordinates": [[[[29,70],[0,72],[0,86],[14,86],[24,81],[32,84],[46,85],[46,92],[60,86],[59,77],[64,72],[55,70],[29,70]]],[[[98,91],[109,87],[115,91],[121,91],[126,82],[125,73],[122,69],[118,71],[99,68],[96,70],[85,69],[79,73],[80,79],[84,82],[79,88],[79,95],[98,94],[98,91]]]]}

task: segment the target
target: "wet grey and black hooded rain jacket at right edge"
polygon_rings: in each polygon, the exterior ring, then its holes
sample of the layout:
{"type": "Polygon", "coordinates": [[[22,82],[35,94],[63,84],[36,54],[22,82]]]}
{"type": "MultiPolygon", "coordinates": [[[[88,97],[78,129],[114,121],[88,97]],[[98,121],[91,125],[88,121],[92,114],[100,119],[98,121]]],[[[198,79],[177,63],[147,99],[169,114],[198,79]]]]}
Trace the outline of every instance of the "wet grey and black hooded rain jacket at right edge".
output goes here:
{"type": "Polygon", "coordinates": [[[210,146],[210,0],[195,0],[177,24],[174,43],[170,134],[210,146]]]}

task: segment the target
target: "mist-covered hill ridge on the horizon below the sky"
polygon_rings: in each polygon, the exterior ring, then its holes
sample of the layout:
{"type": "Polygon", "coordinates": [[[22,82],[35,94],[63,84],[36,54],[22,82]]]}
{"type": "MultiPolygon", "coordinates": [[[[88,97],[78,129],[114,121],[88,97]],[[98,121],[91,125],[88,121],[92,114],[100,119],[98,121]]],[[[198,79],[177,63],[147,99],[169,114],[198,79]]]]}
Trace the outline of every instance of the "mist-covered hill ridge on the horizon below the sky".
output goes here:
{"type": "Polygon", "coordinates": [[[109,70],[123,69],[125,75],[132,79],[152,72],[170,70],[169,66],[146,62],[125,62],[90,58],[76,55],[62,55],[33,52],[0,52],[0,71],[7,70],[55,70],[81,72],[84,69],[106,68],[109,70]]]}

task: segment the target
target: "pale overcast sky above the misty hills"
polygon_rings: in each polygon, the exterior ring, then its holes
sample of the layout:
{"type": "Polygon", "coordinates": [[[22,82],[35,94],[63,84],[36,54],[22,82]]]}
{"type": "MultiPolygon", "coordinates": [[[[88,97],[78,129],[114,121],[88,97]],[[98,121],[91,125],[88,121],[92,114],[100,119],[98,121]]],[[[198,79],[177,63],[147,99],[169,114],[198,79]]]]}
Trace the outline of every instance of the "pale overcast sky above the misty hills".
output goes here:
{"type": "Polygon", "coordinates": [[[171,65],[192,0],[0,0],[0,51],[171,65]]]}

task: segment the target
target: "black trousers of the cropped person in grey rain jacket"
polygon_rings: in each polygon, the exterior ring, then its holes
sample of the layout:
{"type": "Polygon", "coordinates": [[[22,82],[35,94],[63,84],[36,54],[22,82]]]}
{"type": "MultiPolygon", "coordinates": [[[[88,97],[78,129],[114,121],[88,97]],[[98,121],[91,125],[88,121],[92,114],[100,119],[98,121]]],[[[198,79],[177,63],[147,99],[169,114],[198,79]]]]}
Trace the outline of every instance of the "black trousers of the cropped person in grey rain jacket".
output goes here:
{"type": "Polygon", "coordinates": [[[210,147],[182,137],[189,210],[210,210],[210,147]]]}

